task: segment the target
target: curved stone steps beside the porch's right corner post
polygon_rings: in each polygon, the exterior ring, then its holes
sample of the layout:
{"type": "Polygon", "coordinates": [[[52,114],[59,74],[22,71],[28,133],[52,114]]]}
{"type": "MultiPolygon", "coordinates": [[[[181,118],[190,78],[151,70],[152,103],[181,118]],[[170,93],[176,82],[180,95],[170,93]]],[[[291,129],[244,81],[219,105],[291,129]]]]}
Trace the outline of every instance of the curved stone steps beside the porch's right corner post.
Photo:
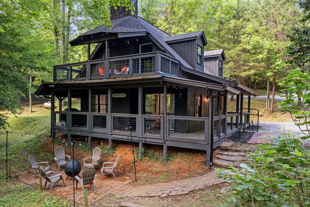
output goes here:
{"type": "Polygon", "coordinates": [[[247,152],[218,152],[218,155],[214,156],[214,164],[227,168],[229,166],[238,168],[240,163],[246,161],[247,152]]]}

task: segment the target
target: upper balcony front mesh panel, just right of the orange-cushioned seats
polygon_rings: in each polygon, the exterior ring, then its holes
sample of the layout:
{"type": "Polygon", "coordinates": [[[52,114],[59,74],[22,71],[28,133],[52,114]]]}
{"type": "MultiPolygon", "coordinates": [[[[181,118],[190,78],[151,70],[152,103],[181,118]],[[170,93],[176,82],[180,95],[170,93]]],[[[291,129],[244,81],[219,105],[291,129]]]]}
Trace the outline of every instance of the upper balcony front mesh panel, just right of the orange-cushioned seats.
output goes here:
{"type": "Polygon", "coordinates": [[[155,56],[132,59],[132,74],[154,72],[155,56]]]}

